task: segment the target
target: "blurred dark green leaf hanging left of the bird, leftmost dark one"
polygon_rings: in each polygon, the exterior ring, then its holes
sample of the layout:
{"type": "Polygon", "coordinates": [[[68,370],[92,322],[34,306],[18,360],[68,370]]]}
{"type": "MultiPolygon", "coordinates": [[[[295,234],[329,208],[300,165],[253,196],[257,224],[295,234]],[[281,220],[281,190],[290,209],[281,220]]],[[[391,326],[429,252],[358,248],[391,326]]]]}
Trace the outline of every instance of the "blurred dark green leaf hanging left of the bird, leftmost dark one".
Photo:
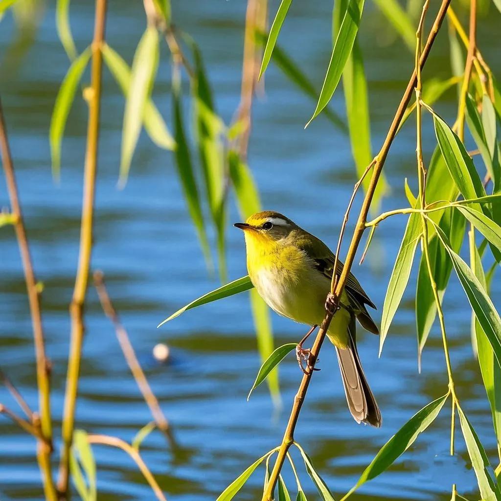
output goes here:
{"type": "MultiPolygon", "coordinates": [[[[188,212],[195,226],[198,240],[209,271],[213,270],[212,258],[210,255],[209,242],[205,231],[200,197],[196,186],[191,152],[184,132],[184,121],[181,109],[181,83],[175,78],[172,83],[172,99],[174,111],[174,137],[176,141],[175,160],[179,179],[184,192],[184,198],[188,205],[188,212]]],[[[132,88],[131,88],[132,90],[132,88]]]]}

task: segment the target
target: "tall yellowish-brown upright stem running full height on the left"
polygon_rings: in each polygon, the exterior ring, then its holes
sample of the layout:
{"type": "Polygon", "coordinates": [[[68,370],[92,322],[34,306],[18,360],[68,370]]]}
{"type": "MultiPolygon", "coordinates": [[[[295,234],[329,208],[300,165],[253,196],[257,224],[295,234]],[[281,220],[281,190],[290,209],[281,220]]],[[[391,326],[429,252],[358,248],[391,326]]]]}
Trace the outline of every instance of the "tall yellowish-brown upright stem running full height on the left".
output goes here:
{"type": "Polygon", "coordinates": [[[78,378],[80,374],[80,361],[82,358],[82,342],[84,336],[83,309],[89,280],[89,266],[92,252],[92,224],[94,217],[94,192],[96,185],[101,73],[103,62],[101,47],[104,41],[106,2],[107,0],[96,0],[94,39],[92,41],[91,92],[89,93],[88,99],[89,120],[87,125],[87,146],[84,167],[80,249],[75,288],[70,305],[70,355],[63,415],[63,447],[61,451],[58,481],[59,489],[63,494],[68,492],[68,462],[73,438],[75,407],[78,393],[78,378]]]}

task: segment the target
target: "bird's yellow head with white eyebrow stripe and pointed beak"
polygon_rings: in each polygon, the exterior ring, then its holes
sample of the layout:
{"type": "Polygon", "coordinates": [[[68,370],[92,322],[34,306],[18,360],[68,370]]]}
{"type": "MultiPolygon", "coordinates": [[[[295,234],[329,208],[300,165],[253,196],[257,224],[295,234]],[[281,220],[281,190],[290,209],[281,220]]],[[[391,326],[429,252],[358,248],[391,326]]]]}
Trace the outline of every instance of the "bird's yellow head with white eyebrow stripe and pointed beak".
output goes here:
{"type": "Polygon", "coordinates": [[[247,244],[253,242],[260,245],[283,240],[299,229],[288,217],[273,210],[256,212],[245,222],[237,222],[233,226],[243,230],[247,244]]]}

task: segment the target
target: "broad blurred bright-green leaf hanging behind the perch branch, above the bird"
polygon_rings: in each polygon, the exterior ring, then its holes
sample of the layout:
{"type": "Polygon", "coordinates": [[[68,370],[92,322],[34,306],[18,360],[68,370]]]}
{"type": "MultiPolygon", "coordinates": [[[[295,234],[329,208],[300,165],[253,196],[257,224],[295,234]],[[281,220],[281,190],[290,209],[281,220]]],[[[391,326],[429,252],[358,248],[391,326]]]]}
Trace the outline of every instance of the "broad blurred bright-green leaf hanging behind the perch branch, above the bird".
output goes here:
{"type": "MultiPolygon", "coordinates": [[[[333,38],[338,33],[342,23],[342,13],[346,11],[348,0],[334,2],[333,10],[333,38]]],[[[343,92],[346,103],[346,116],[350,134],[351,151],[357,167],[357,175],[361,177],[367,165],[372,161],[369,94],[367,92],[367,79],[365,78],[362,50],[357,38],[343,71],[343,92]]],[[[363,186],[367,189],[370,176],[365,176],[363,186]]],[[[385,191],[386,179],[380,178],[372,198],[371,209],[377,211],[385,191]]]]}

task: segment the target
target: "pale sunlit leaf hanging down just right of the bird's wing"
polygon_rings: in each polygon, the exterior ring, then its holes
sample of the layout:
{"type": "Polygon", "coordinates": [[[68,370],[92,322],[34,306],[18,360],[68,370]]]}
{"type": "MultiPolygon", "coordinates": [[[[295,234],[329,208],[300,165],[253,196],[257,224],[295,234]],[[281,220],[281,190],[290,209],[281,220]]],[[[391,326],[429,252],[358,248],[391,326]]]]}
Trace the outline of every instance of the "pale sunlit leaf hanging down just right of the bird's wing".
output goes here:
{"type": "Polygon", "coordinates": [[[379,336],[379,356],[381,356],[381,352],[383,351],[383,344],[388,334],[391,321],[393,320],[398,305],[402,300],[405,288],[407,287],[420,235],[421,219],[419,214],[413,213],[407,221],[405,233],[400,248],[398,249],[397,258],[393,266],[393,271],[391,272],[388,289],[384,298],[383,314],[381,317],[381,334],[379,336]]]}

